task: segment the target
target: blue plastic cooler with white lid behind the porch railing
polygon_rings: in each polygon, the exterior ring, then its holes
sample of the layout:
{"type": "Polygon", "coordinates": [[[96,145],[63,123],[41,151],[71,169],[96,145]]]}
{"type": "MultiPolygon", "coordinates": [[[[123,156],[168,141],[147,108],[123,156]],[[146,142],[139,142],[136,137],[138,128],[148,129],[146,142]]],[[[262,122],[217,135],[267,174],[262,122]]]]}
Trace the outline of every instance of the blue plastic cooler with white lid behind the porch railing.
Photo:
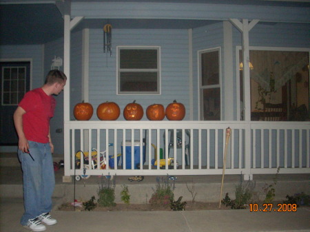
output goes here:
{"type": "MultiPolygon", "coordinates": [[[[125,160],[126,160],[126,169],[132,169],[132,141],[131,140],[126,140],[126,147],[125,147],[125,160]]],[[[123,156],[123,142],[121,145],[121,152],[123,156]]],[[[143,143],[143,162],[142,164],[145,163],[145,143],[143,143]]],[[[123,167],[123,159],[122,159],[122,167],[123,167]]],[[[135,140],[134,141],[134,169],[139,169],[140,168],[140,141],[135,140]]]]}

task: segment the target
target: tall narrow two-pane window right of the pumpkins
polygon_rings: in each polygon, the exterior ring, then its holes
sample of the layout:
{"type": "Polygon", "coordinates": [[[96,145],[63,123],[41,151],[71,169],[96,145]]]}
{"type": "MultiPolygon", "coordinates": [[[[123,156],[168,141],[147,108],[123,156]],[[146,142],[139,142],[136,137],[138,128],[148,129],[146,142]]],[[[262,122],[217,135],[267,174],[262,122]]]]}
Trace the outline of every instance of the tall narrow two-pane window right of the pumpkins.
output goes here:
{"type": "Polygon", "coordinates": [[[198,52],[200,120],[220,120],[220,48],[198,52]]]}

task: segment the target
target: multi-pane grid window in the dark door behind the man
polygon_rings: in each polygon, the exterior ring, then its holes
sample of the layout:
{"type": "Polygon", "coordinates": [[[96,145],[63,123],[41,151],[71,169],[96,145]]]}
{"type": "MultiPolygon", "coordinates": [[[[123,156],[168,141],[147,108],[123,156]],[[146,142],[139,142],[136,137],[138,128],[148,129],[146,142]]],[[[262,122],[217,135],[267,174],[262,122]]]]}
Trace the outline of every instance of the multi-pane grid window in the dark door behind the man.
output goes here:
{"type": "Polygon", "coordinates": [[[26,92],[25,86],[25,67],[2,67],[2,105],[17,105],[26,92]]]}

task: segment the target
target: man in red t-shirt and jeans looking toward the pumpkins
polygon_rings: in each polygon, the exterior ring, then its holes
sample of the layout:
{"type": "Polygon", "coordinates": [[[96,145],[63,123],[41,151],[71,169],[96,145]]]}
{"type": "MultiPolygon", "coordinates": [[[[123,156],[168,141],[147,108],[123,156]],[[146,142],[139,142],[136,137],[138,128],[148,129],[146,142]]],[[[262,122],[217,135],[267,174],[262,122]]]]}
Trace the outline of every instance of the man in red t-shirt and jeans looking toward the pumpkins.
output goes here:
{"type": "Polygon", "coordinates": [[[56,224],[50,216],[55,178],[50,137],[50,118],[54,116],[56,101],[67,77],[59,70],[51,70],[41,88],[27,92],[16,111],[14,125],[19,136],[19,160],[23,169],[23,200],[25,213],[21,224],[32,231],[45,231],[45,225],[56,224]]]}

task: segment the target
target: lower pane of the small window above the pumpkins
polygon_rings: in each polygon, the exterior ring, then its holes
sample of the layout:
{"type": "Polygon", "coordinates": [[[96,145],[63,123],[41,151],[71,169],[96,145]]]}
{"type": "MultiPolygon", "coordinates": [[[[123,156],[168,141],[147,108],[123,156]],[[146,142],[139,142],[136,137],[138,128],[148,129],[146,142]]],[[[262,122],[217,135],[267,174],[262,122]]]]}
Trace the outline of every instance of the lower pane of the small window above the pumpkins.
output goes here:
{"type": "Polygon", "coordinates": [[[121,72],[121,92],[157,92],[157,72],[121,72]]]}

